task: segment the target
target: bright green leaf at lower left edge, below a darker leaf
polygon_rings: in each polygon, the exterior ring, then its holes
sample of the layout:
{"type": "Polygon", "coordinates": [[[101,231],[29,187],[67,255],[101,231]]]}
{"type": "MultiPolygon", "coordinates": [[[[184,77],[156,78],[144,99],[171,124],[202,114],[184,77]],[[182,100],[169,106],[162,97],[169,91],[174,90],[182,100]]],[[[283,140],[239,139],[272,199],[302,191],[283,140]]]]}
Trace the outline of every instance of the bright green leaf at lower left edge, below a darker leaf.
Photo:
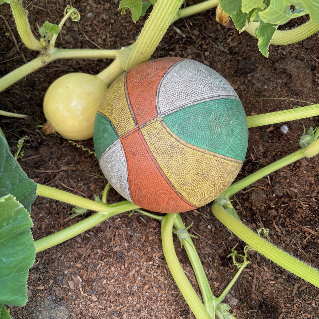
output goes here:
{"type": "Polygon", "coordinates": [[[12,196],[0,197],[0,305],[25,306],[35,245],[26,209],[12,196]]]}

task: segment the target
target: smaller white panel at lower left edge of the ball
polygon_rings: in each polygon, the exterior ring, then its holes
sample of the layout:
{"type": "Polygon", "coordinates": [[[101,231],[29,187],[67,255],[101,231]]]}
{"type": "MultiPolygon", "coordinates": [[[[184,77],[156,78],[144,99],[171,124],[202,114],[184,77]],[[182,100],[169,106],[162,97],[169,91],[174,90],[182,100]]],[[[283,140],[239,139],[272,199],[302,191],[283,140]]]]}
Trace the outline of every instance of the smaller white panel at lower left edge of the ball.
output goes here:
{"type": "Polygon", "coordinates": [[[119,140],[116,140],[102,154],[100,167],[112,187],[132,202],[128,186],[126,158],[119,140]]]}

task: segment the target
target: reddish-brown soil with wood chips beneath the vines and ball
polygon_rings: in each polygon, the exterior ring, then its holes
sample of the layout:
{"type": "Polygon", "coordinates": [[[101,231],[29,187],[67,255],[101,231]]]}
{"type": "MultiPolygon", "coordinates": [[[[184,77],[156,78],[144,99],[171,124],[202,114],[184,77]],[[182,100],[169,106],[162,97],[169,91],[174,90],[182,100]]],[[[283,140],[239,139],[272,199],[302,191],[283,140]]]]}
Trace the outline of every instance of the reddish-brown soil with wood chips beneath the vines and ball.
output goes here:
{"type": "MultiPolygon", "coordinates": [[[[45,20],[60,21],[65,1],[24,1],[33,29],[45,20]]],[[[187,1],[186,5],[196,3],[187,1]]],[[[57,47],[120,48],[133,43],[145,19],[133,24],[121,16],[118,1],[83,0],[72,3],[82,14],[78,23],[66,23],[57,47]],[[88,18],[87,14],[93,13],[88,18]]],[[[8,5],[0,6],[0,76],[32,60],[16,32],[8,5]],[[6,26],[6,19],[11,31],[6,26]],[[18,48],[13,42],[18,41],[18,48]]],[[[238,34],[229,24],[215,21],[215,10],[181,19],[167,31],[153,57],[180,56],[195,59],[218,71],[233,85],[247,115],[290,109],[319,101],[318,34],[289,46],[271,46],[263,57],[257,41],[238,34]],[[179,30],[179,32],[177,32],[179,30]],[[263,99],[268,98],[268,99],[263,99]]],[[[293,25],[291,25],[293,26],[293,25]]],[[[12,150],[20,137],[29,136],[19,163],[35,182],[64,189],[90,199],[100,195],[106,181],[93,156],[57,136],[43,136],[42,100],[48,85],[67,72],[97,74],[110,60],[56,61],[0,94],[1,108],[29,115],[27,119],[0,117],[12,150]],[[94,175],[97,174],[97,175],[94,175]]],[[[299,149],[303,126],[319,125],[318,116],[249,129],[246,161],[238,179],[299,149]]],[[[93,149],[93,141],[82,142],[93,149]]],[[[319,158],[303,159],[282,168],[237,193],[234,206],[242,221],[257,229],[270,229],[269,240],[307,263],[319,267],[319,158]]],[[[121,198],[112,189],[108,202],[121,198]]],[[[66,204],[37,198],[32,206],[34,239],[76,223],[66,204]]],[[[89,216],[91,213],[86,213],[89,216]]],[[[190,225],[198,254],[213,293],[218,296],[236,272],[227,255],[244,243],[211,214],[210,205],[182,214],[190,225]]],[[[163,256],[160,223],[138,213],[128,213],[36,255],[28,280],[26,307],[11,308],[18,318],[194,318],[163,256]]],[[[175,247],[190,282],[198,291],[187,256],[175,238],[175,247]]],[[[236,318],[315,319],[319,291],[256,252],[226,297],[236,318]]]]}

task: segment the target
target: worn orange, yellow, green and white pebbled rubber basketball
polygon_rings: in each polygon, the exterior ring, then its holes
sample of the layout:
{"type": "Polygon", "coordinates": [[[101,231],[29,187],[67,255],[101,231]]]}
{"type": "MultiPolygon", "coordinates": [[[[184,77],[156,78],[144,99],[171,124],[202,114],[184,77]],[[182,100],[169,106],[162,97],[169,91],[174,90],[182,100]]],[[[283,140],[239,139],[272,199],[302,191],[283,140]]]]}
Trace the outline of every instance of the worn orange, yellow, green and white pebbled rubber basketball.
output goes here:
{"type": "Polygon", "coordinates": [[[161,58],[110,86],[94,148],[110,184],[138,206],[181,212],[210,203],[235,179],[247,152],[244,108],[208,66],[161,58]]]}

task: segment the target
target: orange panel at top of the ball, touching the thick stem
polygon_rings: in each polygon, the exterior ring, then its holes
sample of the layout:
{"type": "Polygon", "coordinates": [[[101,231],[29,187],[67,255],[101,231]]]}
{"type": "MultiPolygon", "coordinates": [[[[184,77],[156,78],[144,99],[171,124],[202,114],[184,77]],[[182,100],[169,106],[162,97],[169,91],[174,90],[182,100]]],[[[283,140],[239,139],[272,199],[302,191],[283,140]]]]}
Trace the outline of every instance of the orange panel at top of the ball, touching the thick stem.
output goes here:
{"type": "Polygon", "coordinates": [[[137,125],[157,117],[157,87],[167,70],[179,60],[182,58],[156,59],[152,60],[152,67],[148,63],[142,63],[127,72],[126,96],[130,100],[137,125]]]}

